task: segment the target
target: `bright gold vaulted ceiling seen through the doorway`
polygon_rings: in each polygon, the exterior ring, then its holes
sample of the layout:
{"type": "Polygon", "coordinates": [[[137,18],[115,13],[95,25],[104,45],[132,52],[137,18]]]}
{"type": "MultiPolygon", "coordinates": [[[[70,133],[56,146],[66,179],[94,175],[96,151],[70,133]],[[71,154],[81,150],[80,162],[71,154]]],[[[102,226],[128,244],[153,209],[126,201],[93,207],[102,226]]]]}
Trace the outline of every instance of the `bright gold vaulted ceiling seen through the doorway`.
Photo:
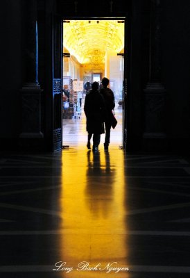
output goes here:
{"type": "Polygon", "coordinates": [[[63,25],[63,44],[80,64],[105,63],[110,51],[124,47],[124,22],[117,20],[70,20],[63,25]]]}

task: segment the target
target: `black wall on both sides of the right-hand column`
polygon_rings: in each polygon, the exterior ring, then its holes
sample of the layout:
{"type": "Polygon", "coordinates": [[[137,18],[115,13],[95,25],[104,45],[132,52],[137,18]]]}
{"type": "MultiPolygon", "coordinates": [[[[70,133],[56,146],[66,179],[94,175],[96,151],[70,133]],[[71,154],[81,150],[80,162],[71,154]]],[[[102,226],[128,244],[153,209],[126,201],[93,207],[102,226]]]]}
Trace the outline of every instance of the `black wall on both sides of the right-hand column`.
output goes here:
{"type": "MultiPolygon", "coordinates": [[[[149,81],[150,2],[132,1],[130,19],[130,74],[128,143],[144,151],[143,90],[149,81]]],[[[166,152],[190,152],[190,1],[161,0],[161,82],[166,89],[163,131],[166,152]]],[[[152,149],[154,151],[154,149],[152,149]]]]}

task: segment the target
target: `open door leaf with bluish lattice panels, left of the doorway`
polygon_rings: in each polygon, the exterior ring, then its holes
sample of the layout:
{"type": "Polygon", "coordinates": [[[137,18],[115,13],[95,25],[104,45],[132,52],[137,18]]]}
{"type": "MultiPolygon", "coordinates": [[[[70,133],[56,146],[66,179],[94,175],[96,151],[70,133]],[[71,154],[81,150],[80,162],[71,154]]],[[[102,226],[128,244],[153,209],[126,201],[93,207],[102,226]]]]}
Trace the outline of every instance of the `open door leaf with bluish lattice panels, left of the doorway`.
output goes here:
{"type": "Polygon", "coordinates": [[[53,16],[53,151],[62,148],[62,18],[53,16]]]}

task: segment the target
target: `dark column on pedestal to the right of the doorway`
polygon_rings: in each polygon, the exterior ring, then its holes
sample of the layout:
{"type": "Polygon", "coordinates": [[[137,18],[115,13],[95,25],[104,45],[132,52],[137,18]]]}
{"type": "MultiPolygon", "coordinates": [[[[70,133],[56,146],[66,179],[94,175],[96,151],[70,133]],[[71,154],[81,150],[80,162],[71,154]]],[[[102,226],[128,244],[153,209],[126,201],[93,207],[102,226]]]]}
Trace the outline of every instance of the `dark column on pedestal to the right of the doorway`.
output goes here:
{"type": "Polygon", "coordinates": [[[161,82],[160,0],[150,1],[149,81],[144,89],[144,149],[166,147],[164,104],[166,90],[161,82]]]}

